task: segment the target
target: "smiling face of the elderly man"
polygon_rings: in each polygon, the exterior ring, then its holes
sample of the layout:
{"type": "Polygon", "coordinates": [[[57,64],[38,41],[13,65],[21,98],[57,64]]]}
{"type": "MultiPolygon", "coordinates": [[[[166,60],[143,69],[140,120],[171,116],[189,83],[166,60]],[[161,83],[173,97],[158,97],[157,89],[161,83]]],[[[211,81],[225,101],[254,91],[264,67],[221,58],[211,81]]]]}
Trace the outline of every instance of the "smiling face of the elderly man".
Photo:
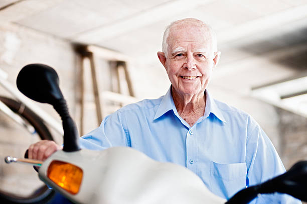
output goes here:
{"type": "Polygon", "coordinates": [[[195,25],[170,30],[165,68],[173,90],[179,95],[204,93],[219,54],[213,51],[208,31],[195,25]]]}

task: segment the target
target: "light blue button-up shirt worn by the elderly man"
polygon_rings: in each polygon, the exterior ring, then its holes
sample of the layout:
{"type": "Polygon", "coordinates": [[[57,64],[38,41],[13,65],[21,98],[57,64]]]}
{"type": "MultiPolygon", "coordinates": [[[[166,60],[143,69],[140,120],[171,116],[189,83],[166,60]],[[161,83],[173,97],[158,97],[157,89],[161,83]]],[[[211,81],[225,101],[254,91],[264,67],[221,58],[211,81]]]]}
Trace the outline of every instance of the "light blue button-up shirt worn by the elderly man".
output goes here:
{"type": "MultiPolygon", "coordinates": [[[[106,116],[98,128],[82,137],[81,146],[130,146],[158,161],[183,165],[226,199],[285,171],[257,122],[211,98],[207,90],[205,113],[192,127],[178,114],[170,88],[158,99],[129,104],[106,116]]],[[[301,202],[274,194],[261,195],[253,203],[301,202]]]]}

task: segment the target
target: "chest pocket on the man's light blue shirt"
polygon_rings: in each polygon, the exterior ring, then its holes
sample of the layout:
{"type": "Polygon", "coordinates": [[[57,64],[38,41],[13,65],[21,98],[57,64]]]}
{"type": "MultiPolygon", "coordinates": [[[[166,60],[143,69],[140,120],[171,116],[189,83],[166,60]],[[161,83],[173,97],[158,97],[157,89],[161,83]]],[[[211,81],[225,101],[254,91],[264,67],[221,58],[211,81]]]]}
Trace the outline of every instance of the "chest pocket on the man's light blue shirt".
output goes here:
{"type": "Polygon", "coordinates": [[[210,164],[210,188],[215,194],[228,199],[246,187],[247,168],[245,163],[210,164]]]}

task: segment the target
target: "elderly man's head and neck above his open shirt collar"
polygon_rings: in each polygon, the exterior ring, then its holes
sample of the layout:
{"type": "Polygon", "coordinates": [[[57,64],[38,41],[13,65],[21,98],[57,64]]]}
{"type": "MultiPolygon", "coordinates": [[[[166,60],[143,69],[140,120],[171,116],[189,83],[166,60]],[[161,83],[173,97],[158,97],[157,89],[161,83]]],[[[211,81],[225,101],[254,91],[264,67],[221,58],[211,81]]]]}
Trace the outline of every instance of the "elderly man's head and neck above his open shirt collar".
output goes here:
{"type": "Polygon", "coordinates": [[[196,19],[179,20],[165,31],[158,57],[172,83],[179,115],[193,126],[204,115],[205,89],[220,58],[214,32],[196,19]]]}

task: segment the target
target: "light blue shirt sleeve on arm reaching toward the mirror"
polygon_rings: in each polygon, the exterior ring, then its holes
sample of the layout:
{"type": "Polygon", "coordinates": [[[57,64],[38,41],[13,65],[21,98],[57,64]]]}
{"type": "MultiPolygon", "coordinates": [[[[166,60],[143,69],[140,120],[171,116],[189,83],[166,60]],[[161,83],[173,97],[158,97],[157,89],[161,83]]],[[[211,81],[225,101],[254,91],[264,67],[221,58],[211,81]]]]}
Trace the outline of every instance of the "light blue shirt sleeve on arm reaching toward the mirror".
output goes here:
{"type": "Polygon", "coordinates": [[[130,146],[129,133],[124,128],[121,112],[106,116],[99,127],[80,138],[81,148],[103,150],[111,146],[130,146]]]}

